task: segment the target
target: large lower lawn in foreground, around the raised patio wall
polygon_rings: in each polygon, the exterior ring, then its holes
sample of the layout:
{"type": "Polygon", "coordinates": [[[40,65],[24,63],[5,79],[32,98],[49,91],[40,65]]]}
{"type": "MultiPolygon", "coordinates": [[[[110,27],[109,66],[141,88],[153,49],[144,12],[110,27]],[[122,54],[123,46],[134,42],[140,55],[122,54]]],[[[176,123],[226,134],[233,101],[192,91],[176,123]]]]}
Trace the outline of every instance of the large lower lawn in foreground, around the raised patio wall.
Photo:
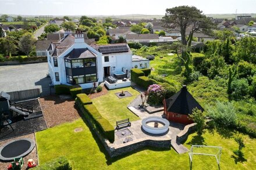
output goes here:
{"type": "MultiPolygon", "coordinates": [[[[202,138],[193,133],[184,145],[190,148],[191,144],[207,144],[222,146],[221,169],[255,169],[256,152],[255,139],[246,138],[244,162],[237,162],[233,150],[237,144],[232,136],[205,131],[202,138]]],[[[105,155],[102,144],[94,138],[90,129],[83,120],[55,126],[45,131],[36,132],[38,158],[40,164],[50,161],[61,155],[66,156],[73,169],[189,169],[188,154],[177,154],[172,150],[145,148],[133,154],[111,159],[105,155]],[[83,128],[81,132],[74,132],[76,128],[83,128]]],[[[214,157],[195,156],[193,169],[218,169],[214,157]]]]}

